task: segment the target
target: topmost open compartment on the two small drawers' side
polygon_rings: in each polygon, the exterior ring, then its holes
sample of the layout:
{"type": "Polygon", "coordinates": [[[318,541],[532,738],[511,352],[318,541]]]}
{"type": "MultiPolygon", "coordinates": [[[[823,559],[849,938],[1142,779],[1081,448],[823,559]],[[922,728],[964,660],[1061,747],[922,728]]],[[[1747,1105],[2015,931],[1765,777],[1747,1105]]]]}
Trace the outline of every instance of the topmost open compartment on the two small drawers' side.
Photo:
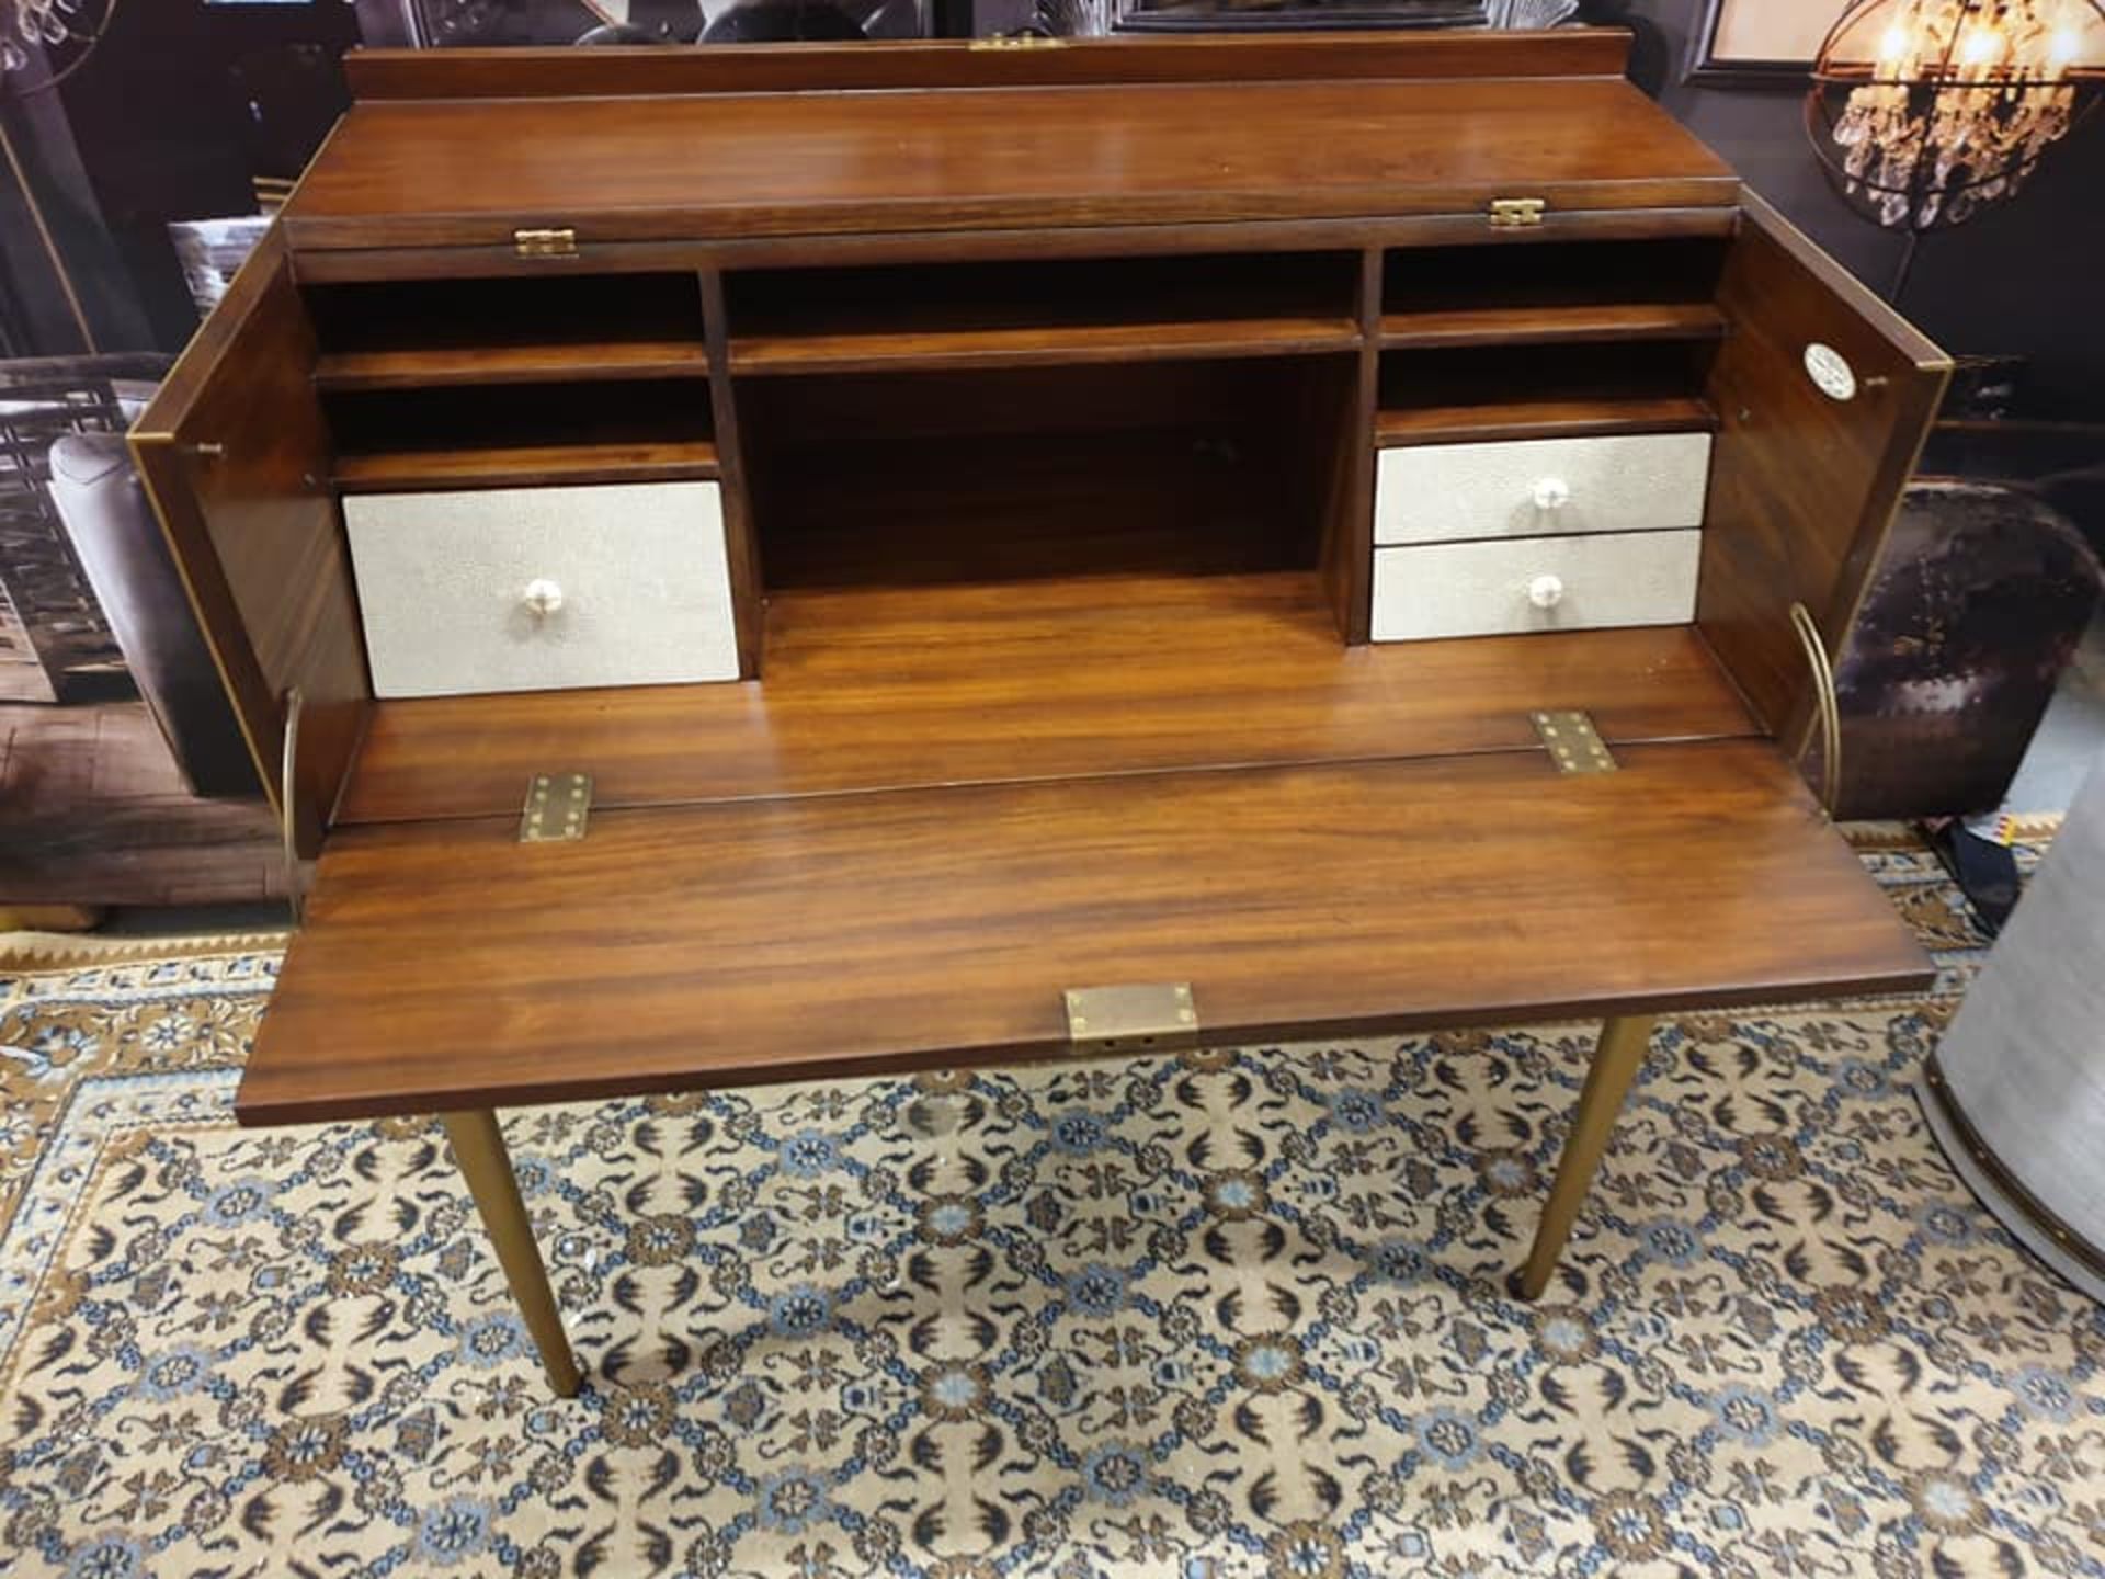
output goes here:
{"type": "Polygon", "coordinates": [[[1486,242],[1383,257],[1383,345],[1716,339],[1724,240],[1486,242]]]}

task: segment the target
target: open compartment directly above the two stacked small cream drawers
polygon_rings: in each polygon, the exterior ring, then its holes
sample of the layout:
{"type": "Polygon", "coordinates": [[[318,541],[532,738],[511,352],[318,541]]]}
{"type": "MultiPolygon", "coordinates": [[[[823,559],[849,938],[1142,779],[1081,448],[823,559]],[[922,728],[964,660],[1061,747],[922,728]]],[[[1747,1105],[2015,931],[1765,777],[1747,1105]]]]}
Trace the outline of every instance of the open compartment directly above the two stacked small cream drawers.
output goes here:
{"type": "Polygon", "coordinates": [[[1711,341],[1383,352],[1377,444],[1707,432],[1711,341]]]}

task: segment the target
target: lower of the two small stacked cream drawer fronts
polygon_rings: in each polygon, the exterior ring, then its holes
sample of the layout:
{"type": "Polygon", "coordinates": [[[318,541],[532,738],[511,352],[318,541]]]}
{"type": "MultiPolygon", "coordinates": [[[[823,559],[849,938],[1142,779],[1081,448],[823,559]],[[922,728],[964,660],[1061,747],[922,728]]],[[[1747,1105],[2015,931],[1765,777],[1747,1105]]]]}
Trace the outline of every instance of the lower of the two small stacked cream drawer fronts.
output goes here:
{"type": "Polygon", "coordinates": [[[1375,640],[1684,625],[1703,533],[1375,549],[1375,640]]]}

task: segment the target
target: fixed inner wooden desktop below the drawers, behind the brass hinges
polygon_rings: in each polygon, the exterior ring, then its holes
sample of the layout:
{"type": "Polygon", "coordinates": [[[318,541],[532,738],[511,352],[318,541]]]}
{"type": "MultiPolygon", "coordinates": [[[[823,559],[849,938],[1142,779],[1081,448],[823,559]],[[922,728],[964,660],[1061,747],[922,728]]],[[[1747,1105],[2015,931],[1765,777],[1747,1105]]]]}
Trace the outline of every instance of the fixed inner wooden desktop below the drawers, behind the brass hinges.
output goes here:
{"type": "Polygon", "coordinates": [[[766,682],[383,701],[345,823],[1749,735],[1690,629],[1345,648],[1314,573],[777,594],[766,682]]]}

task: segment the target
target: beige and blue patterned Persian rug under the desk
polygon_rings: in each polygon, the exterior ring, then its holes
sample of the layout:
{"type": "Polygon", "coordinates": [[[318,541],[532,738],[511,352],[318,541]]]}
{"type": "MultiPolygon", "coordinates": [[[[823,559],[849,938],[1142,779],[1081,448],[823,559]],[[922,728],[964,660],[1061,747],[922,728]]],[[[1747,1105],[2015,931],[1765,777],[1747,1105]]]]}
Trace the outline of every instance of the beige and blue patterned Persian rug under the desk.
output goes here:
{"type": "MultiPolygon", "coordinates": [[[[0,983],[8,1575],[2105,1575],[2105,1314],[1907,1002],[520,1112],[552,1400],[438,1133],[238,1131],[276,956],[0,983]]],[[[579,1036],[589,1036],[579,1025],[579,1036]]]]}

